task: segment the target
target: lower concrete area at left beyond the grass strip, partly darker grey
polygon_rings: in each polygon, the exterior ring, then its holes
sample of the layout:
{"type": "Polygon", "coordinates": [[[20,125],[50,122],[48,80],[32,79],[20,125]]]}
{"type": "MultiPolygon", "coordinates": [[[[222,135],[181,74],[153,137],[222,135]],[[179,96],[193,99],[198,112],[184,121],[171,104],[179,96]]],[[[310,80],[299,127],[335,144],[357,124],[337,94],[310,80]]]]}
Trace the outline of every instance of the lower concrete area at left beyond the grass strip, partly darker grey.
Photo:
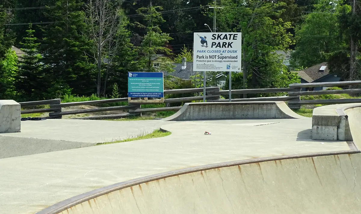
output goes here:
{"type": "Polygon", "coordinates": [[[47,119],[22,121],[22,132],[0,134],[0,158],[88,147],[148,134],[165,122],[47,119]]]}

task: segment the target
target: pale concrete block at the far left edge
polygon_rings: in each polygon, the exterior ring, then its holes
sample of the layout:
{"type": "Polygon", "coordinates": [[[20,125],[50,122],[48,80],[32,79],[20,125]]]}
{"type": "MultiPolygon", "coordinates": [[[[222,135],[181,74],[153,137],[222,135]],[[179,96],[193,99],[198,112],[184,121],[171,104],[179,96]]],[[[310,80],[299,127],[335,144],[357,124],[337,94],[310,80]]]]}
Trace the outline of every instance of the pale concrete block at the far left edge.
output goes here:
{"type": "Polygon", "coordinates": [[[14,100],[0,100],[0,133],[20,132],[21,106],[14,100]]]}

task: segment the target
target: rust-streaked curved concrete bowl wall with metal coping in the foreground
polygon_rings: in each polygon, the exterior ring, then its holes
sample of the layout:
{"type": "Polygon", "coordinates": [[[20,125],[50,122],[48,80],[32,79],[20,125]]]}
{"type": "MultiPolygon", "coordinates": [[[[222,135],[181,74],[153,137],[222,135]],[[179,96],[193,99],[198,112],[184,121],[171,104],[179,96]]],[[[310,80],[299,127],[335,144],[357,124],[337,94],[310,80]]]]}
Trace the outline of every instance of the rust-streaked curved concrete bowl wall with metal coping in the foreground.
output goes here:
{"type": "Polygon", "coordinates": [[[278,156],[170,171],[83,193],[38,214],[360,213],[359,153],[278,156]]]}

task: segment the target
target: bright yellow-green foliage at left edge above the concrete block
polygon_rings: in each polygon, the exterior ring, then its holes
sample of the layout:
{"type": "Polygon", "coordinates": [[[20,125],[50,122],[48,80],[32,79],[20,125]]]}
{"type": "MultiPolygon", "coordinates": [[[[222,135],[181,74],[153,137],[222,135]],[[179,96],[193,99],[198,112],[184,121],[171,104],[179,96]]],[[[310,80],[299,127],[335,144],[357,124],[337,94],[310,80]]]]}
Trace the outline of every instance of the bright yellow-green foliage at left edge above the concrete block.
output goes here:
{"type": "Polygon", "coordinates": [[[3,87],[2,93],[0,92],[0,97],[5,99],[13,99],[16,96],[16,89],[14,86],[15,79],[18,75],[17,67],[18,57],[16,56],[15,51],[9,49],[5,53],[5,57],[0,61],[0,84],[3,87]]]}

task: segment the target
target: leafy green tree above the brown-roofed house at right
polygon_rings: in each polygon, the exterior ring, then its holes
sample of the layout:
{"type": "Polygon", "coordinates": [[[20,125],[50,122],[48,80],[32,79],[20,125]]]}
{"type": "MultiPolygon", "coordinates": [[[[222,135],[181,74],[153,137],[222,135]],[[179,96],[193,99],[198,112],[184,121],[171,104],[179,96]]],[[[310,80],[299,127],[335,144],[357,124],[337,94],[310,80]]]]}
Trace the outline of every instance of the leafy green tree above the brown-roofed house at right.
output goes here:
{"type": "Polygon", "coordinates": [[[311,67],[325,62],[332,54],[342,50],[345,43],[338,38],[337,14],[344,0],[320,0],[316,13],[308,13],[296,29],[296,48],[291,54],[291,68],[311,67]],[[335,6],[336,5],[336,6],[335,6]]]}

